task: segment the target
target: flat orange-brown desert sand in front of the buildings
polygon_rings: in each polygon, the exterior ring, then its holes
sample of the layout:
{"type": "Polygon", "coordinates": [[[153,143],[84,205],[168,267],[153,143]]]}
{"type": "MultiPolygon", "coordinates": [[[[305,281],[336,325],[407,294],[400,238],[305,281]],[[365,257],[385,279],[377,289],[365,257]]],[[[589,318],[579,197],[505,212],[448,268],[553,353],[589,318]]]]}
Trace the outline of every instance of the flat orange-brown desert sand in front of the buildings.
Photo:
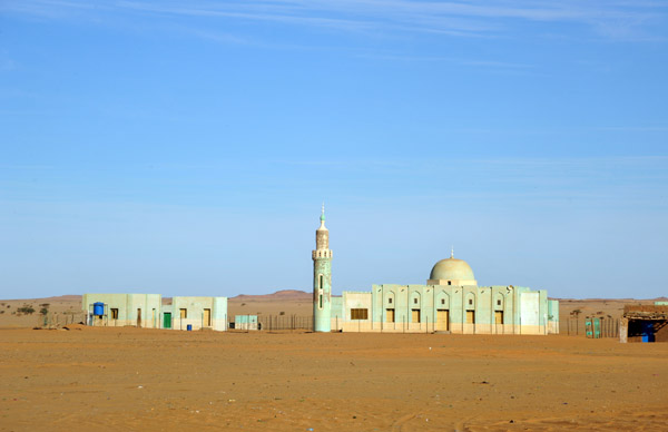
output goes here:
{"type": "Polygon", "coordinates": [[[0,430],[660,431],[667,357],[567,336],[0,330],[0,430]]]}

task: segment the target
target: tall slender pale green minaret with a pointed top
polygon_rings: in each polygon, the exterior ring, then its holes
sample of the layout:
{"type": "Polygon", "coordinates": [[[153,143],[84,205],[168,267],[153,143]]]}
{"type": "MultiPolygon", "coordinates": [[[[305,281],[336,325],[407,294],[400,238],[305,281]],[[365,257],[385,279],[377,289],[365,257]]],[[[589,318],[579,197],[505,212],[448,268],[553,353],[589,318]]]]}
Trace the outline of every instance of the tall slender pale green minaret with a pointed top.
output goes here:
{"type": "Polygon", "coordinates": [[[315,230],[313,257],[313,331],[332,330],[332,251],[330,230],[325,226],[325,204],[321,214],[321,226],[315,230]]]}

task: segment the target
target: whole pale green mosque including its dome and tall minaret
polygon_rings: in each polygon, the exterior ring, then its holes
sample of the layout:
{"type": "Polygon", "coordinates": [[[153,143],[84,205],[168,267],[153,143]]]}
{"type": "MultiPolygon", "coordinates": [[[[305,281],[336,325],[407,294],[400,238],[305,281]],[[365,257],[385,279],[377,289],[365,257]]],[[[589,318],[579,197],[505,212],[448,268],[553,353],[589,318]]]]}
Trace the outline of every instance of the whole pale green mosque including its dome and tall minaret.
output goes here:
{"type": "Polygon", "coordinates": [[[438,262],[425,285],[372,285],[371,292],[332,295],[332,251],[325,210],[315,232],[313,328],[316,332],[452,334],[559,333],[559,302],[546,289],[478,286],[462,259],[438,262]]]}

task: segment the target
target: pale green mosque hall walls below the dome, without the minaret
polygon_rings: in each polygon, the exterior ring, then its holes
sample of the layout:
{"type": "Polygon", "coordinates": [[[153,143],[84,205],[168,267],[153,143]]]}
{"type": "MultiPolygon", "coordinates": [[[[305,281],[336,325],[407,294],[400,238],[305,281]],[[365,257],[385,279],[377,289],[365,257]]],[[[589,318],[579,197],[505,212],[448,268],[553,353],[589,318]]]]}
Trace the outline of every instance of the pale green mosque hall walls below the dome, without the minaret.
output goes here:
{"type": "Polygon", "coordinates": [[[559,333],[559,302],[521,286],[373,285],[332,298],[343,332],[559,333]]]}

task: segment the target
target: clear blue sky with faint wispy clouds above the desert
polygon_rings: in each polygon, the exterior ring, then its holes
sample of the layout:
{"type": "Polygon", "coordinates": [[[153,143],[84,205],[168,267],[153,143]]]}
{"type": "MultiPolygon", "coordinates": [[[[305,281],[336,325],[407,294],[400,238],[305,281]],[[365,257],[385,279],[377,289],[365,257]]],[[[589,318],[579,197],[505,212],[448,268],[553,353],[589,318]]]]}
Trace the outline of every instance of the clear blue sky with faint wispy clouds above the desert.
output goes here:
{"type": "Polygon", "coordinates": [[[0,297],[668,295],[668,2],[0,2],[0,297]]]}

